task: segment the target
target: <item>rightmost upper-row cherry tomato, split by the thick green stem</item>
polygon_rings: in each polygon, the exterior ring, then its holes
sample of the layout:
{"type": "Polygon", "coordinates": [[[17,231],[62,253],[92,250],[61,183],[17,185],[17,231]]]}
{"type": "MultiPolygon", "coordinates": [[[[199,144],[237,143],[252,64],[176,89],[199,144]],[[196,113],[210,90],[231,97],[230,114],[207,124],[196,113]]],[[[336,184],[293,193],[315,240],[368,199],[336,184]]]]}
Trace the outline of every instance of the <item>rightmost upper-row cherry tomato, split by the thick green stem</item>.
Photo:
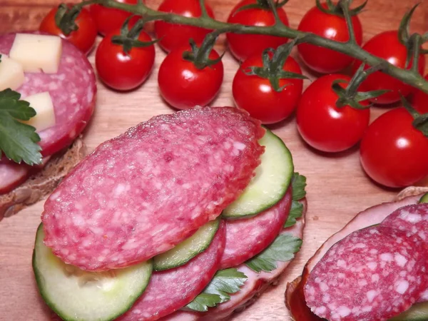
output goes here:
{"type": "MultiPolygon", "coordinates": [[[[374,56],[384,58],[389,61],[389,63],[392,63],[394,66],[399,68],[404,68],[404,66],[406,66],[407,49],[399,42],[397,31],[385,31],[381,34],[377,34],[367,41],[367,44],[363,46],[363,49],[374,56]]],[[[360,65],[361,61],[355,61],[352,65],[353,71],[355,72],[360,65]]],[[[412,66],[412,63],[409,65],[412,66]]],[[[410,68],[410,66],[408,68],[410,68]]],[[[419,56],[418,67],[419,73],[423,74],[425,68],[424,55],[419,56]]],[[[369,67],[366,66],[365,68],[369,67]]],[[[381,71],[372,73],[367,77],[364,83],[367,91],[379,89],[390,90],[390,92],[372,99],[374,103],[394,103],[399,101],[400,93],[403,96],[407,96],[412,91],[412,86],[409,86],[392,76],[388,76],[386,73],[382,73],[381,71]]]]}

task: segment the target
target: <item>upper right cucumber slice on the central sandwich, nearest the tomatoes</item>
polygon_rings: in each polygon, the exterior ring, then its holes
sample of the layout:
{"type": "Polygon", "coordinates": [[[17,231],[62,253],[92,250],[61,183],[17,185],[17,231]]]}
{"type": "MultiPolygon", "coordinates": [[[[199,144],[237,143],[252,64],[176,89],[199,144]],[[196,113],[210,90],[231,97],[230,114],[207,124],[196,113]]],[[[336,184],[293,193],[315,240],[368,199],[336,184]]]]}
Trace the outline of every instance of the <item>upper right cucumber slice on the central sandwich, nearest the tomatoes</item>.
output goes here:
{"type": "Polygon", "coordinates": [[[223,210],[223,218],[234,219],[256,215],[271,208],[287,193],[294,173],[290,151],[281,138],[268,129],[259,143],[265,146],[265,153],[261,157],[262,163],[256,168],[255,177],[238,200],[223,210]]]}

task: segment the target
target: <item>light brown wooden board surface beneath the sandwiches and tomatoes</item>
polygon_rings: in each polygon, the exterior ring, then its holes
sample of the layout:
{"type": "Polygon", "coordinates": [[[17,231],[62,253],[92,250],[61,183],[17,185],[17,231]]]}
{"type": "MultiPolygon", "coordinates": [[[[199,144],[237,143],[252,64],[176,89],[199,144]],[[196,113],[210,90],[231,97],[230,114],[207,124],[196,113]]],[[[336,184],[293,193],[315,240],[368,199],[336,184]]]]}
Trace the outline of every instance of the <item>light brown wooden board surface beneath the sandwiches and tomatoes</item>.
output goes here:
{"type": "MultiPolygon", "coordinates": [[[[361,14],[365,39],[380,31],[396,29],[412,1],[370,0],[361,14]]],[[[147,1],[156,8],[160,1],[147,1]]],[[[216,17],[225,20],[238,0],[210,0],[216,17]]],[[[56,0],[0,0],[0,33],[33,30],[39,26],[44,14],[58,3],[56,0]]],[[[315,1],[290,0],[285,10],[293,27],[297,27],[305,11],[315,1]]],[[[412,21],[414,31],[428,30],[428,1],[417,9],[412,21]]],[[[220,41],[220,47],[224,41],[220,41]]],[[[220,48],[221,49],[221,48],[220,48]]],[[[108,138],[117,136],[136,123],[146,121],[159,113],[172,113],[158,95],[157,73],[165,54],[157,50],[156,66],[151,78],[131,93],[116,93],[98,84],[98,104],[85,141],[91,150],[108,138]]],[[[89,56],[93,63],[93,53],[89,56]]],[[[231,82],[238,63],[230,54],[224,58],[225,82],[213,105],[232,106],[231,82]]],[[[305,71],[307,74],[308,71],[305,71]]],[[[312,78],[314,75],[311,75],[312,78]]],[[[305,82],[305,85],[309,81],[305,82]]],[[[374,108],[372,118],[382,108],[374,108]]],[[[295,168],[307,176],[307,227],[302,250],[282,275],[280,283],[271,287],[248,310],[235,315],[233,320],[290,320],[283,303],[287,282],[300,274],[302,267],[315,250],[332,233],[342,228],[355,213],[371,205],[392,200],[397,190],[375,185],[360,167],[358,148],[345,153],[325,155],[318,153],[302,141],[297,134],[295,119],[283,121],[272,129],[281,136],[292,151],[295,168]]],[[[40,222],[43,202],[0,223],[0,320],[49,320],[47,308],[35,287],[31,270],[31,252],[34,235],[40,222]]]]}

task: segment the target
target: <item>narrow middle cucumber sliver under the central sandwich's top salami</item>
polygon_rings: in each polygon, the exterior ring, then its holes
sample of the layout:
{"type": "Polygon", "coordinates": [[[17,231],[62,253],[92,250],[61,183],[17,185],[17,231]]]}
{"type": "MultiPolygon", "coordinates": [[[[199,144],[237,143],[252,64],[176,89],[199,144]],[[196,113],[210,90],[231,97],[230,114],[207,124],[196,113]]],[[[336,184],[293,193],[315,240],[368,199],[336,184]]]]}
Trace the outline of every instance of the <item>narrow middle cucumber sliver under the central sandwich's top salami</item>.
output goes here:
{"type": "Polygon", "coordinates": [[[220,219],[212,220],[199,228],[190,238],[184,240],[169,251],[153,258],[153,269],[163,271],[185,265],[196,255],[210,246],[220,225],[220,219]]]}

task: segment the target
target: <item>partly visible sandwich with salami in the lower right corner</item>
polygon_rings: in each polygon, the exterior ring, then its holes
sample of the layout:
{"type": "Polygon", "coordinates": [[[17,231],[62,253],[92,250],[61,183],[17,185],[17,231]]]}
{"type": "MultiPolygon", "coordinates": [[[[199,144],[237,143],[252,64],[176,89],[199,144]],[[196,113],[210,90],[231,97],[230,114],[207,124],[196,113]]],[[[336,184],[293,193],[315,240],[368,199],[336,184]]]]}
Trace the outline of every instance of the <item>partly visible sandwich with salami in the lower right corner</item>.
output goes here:
{"type": "Polygon", "coordinates": [[[428,320],[428,193],[357,214],[317,250],[285,299],[296,321],[428,320]]]}

